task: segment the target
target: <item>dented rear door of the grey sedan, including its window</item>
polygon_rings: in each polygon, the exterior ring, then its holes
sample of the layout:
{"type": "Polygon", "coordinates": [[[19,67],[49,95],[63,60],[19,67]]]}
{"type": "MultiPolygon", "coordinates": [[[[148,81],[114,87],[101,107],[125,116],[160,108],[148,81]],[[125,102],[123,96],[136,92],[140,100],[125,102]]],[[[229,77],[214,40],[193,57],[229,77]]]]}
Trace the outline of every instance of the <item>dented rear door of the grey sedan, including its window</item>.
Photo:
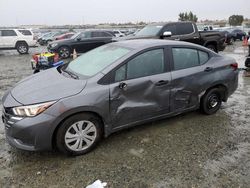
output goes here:
{"type": "Polygon", "coordinates": [[[171,55],[171,111],[197,107],[201,92],[213,79],[213,69],[206,65],[209,54],[195,48],[172,47],[171,55]]]}

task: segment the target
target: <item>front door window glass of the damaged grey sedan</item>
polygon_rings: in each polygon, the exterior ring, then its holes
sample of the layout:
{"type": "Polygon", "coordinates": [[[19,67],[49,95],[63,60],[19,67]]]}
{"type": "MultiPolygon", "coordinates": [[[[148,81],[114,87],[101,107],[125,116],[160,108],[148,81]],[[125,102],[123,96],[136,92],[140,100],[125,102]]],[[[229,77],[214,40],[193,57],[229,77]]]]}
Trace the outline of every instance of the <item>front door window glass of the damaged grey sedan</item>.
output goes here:
{"type": "Polygon", "coordinates": [[[115,73],[115,81],[139,78],[164,72],[163,49],[151,50],[136,56],[115,73]],[[126,70],[127,66],[127,70],[126,70]],[[127,71],[127,72],[126,72],[127,71]]]}

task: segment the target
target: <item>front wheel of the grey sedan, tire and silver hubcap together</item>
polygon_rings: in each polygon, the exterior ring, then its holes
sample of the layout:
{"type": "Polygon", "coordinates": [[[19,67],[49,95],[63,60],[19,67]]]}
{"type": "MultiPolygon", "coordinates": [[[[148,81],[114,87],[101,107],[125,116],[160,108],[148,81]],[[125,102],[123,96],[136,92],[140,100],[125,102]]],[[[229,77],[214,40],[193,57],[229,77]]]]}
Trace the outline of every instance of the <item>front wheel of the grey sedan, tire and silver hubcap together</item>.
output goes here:
{"type": "Polygon", "coordinates": [[[66,119],[56,133],[56,147],[67,155],[82,155],[91,151],[101,140],[103,125],[89,113],[80,113],[66,119]]]}

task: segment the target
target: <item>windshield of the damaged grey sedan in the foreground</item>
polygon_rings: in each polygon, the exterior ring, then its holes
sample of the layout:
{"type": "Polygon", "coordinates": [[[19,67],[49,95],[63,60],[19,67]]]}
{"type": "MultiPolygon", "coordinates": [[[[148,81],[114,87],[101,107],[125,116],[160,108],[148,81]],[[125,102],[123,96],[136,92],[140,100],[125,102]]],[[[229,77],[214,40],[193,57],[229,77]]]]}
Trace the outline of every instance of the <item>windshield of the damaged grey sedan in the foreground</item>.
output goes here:
{"type": "Polygon", "coordinates": [[[131,49],[116,45],[104,45],[91,50],[69,63],[67,70],[83,77],[90,77],[119,58],[128,54],[131,49]]]}

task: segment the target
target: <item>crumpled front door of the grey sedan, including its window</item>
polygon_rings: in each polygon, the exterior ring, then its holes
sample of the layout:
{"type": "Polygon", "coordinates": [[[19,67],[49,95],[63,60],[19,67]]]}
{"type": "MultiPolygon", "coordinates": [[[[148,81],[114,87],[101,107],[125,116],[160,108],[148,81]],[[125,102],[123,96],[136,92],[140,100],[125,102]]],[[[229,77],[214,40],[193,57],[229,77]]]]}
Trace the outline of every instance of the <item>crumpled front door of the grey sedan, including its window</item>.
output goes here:
{"type": "Polygon", "coordinates": [[[144,51],[115,70],[110,85],[114,128],[169,113],[171,75],[164,52],[144,51]]]}

